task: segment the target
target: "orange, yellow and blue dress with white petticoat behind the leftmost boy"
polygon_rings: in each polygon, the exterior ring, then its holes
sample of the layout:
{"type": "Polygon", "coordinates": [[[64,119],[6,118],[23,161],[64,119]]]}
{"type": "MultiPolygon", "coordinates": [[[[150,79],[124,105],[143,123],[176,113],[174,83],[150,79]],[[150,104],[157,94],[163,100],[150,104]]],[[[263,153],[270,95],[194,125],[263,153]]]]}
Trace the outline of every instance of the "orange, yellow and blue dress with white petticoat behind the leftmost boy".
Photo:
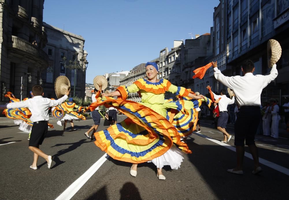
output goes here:
{"type": "MultiPolygon", "coordinates": [[[[16,99],[12,92],[7,92],[5,97],[10,99],[9,103],[20,102],[19,99],[16,99]]],[[[28,98],[23,99],[23,101],[28,98]]],[[[7,108],[3,110],[3,113],[6,117],[13,119],[16,125],[19,125],[19,129],[23,132],[30,133],[32,129],[33,122],[30,120],[31,112],[28,108],[7,108]]],[[[53,128],[53,125],[48,123],[48,126],[53,128]]]]}

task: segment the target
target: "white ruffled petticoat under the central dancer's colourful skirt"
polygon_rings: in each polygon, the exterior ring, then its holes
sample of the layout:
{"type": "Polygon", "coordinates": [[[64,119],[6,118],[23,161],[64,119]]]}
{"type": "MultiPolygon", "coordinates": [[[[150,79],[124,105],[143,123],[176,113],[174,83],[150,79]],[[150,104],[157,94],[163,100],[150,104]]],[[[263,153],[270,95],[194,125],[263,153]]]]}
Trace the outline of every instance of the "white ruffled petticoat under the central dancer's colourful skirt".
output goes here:
{"type": "Polygon", "coordinates": [[[183,162],[183,155],[184,153],[173,145],[166,153],[148,162],[152,162],[157,168],[170,165],[172,169],[178,169],[181,166],[181,162],[183,162]]]}

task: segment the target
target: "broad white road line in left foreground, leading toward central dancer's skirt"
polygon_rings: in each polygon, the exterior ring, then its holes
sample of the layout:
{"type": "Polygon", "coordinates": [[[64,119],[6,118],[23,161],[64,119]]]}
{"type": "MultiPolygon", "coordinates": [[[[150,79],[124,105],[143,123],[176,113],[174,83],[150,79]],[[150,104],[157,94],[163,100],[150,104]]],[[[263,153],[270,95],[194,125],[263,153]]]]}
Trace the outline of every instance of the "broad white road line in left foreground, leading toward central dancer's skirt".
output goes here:
{"type": "Polygon", "coordinates": [[[109,155],[105,153],[97,162],[95,162],[95,164],[93,164],[83,175],[81,175],[81,177],[79,177],[75,182],[73,182],[73,184],[71,184],[55,200],[71,199],[108,158],[109,155]]]}

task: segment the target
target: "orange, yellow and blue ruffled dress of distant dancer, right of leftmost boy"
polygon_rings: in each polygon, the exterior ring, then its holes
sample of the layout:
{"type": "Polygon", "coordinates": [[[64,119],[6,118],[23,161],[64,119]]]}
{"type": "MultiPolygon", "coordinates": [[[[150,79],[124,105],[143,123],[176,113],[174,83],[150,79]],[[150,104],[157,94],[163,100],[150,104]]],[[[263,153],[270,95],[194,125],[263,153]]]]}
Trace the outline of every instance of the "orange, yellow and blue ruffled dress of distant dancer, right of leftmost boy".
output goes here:
{"type": "Polygon", "coordinates": [[[76,108],[78,112],[80,112],[81,110],[83,110],[83,112],[86,112],[88,110],[88,107],[78,106],[71,101],[72,98],[69,99],[69,102],[64,102],[51,109],[51,113],[54,117],[61,118],[61,120],[57,121],[57,124],[60,126],[63,126],[65,120],[67,121],[71,121],[74,119],[86,120],[85,116],[73,111],[73,109],[76,108]]]}

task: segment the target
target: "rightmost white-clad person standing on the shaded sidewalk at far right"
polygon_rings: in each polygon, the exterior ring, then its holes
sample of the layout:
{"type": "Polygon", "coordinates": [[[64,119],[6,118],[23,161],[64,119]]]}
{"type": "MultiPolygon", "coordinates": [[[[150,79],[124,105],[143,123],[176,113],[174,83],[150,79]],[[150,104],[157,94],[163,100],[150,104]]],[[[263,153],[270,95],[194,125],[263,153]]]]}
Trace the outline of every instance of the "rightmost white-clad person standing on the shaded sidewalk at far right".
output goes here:
{"type": "Polygon", "coordinates": [[[272,105],[271,137],[278,138],[279,137],[279,120],[281,119],[280,115],[278,114],[279,112],[279,106],[277,105],[278,101],[276,99],[270,99],[269,101],[272,105]]]}

